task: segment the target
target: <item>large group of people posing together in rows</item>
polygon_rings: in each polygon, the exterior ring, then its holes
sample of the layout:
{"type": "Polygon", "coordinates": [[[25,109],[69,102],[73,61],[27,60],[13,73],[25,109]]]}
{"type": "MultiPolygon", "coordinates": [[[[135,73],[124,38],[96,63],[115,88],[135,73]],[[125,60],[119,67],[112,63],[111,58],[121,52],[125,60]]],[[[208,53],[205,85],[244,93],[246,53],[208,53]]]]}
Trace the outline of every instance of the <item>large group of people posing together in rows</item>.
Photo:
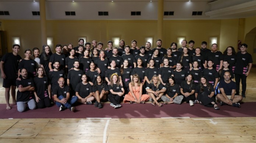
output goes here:
{"type": "Polygon", "coordinates": [[[162,103],[186,102],[219,110],[218,101],[220,106],[240,108],[253,62],[246,52],[248,46],[241,44],[237,53],[228,46],[222,53],[217,44],[211,49],[205,41],[201,48],[194,48],[194,44],[193,40],[183,40],[181,48],[173,42],[165,49],[161,39],[156,41],[156,48],[151,48],[150,42],[138,47],[135,40],[130,47],[121,40],[120,47],[108,41],[103,49],[102,42],[94,40],[91,44],[79,39],[77,47],[56,45],[56,53],[49,45],[43,45],[41,54],[39,48],[26,49],[24,59],[18,55],[20,46],[15,44],[13,52],[6,53],[0,62],[6,109],[11,109],[10,91],[19,112],[24,112],[26,105],[36,109],[52,103],[60,111],[74,112],[76,103],[103,108],[102,103],[107,101],[115,109],[122,102],[147,101],[159,107],[162,103]]]}

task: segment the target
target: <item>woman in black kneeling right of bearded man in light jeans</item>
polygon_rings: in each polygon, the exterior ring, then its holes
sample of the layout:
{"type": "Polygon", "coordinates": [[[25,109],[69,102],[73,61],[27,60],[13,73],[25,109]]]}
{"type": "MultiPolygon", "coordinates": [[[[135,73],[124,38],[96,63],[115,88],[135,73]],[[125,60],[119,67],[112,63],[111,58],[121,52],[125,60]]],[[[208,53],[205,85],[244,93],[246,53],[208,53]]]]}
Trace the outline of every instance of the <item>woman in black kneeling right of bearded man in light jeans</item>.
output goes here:
{"type": "Polygon", "coordinates": [[[38,108],[45,108],[51,106],[51,93],[50,93],[50,86],[47,76],[43,71],[42,67],[37,69],[37,75],[33,78],[35,83],[35,99],[36,105],[38,108]]]}

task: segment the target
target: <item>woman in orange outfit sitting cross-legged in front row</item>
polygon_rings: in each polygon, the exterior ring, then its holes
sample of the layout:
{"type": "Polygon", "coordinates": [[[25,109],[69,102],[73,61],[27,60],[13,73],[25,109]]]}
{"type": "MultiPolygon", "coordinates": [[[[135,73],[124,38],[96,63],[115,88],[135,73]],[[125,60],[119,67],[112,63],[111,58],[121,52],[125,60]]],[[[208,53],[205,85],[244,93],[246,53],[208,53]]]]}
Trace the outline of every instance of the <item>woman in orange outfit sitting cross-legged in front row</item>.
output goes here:
{"type": "Polygon", "coordinates": [[[149,99],[149,95],[143,94],[142,95],[142,83],[139,80],[139,75],[134,74],[132,76],[132,81],[129,83],[129,93],[125,95],[124,97],[124,103],[130,102],[132,103],[142,103],[145,104],[145,102],[149,99]]]}

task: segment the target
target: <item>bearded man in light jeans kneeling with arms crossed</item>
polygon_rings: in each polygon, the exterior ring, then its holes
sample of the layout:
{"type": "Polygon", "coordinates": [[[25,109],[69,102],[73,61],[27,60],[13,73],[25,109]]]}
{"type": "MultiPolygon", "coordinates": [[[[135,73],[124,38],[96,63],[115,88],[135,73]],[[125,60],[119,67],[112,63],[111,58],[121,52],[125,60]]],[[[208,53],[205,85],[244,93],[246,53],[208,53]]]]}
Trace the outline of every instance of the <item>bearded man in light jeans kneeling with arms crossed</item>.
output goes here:
{"type": "Polygon", "coordinates": [[[17,109],[19,112],[24,112],[26,109],[26,103],[31,110],[36,109],[36,102],[33,99],[33,90],[35,85],[33,79],[28,77],[28,72],[25,68],[21,68],[21,80],[16,80],[17,91],[17,109]]]}

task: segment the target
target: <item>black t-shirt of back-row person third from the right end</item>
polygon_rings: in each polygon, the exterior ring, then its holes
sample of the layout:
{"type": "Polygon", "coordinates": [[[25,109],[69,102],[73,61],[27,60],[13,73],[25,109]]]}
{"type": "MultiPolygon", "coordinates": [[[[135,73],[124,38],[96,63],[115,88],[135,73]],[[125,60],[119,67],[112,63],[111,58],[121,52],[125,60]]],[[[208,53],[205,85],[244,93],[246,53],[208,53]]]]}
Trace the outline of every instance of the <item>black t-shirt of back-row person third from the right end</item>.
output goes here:
{"type": "Polygon", "coordinates": [[[216,52],[208,52],[207,53],[207,61],[212,60],[213,61],[213,67],[215,69],[219,69],[220,68],[220,61],[223,60],[223,54],[220,51],[216,51],[216,52]]]}

